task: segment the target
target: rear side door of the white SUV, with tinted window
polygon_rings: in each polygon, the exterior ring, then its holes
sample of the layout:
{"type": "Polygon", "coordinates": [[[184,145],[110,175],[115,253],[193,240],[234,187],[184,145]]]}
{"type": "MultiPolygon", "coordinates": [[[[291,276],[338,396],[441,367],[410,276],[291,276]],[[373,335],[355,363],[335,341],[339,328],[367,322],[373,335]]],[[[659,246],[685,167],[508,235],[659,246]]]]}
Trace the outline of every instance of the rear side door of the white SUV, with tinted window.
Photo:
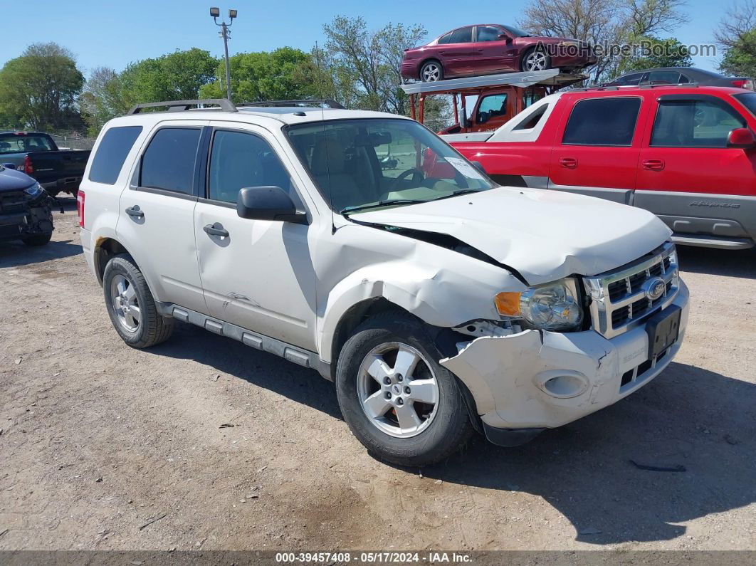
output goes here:
{"type": "Polygon", "coordinates": [[[207,309],[194,243],[194,206],[197,153],[206,125],[176,120],[156,126],[121,194],[116,227],[156,300],[200,312],[207,309]]]}

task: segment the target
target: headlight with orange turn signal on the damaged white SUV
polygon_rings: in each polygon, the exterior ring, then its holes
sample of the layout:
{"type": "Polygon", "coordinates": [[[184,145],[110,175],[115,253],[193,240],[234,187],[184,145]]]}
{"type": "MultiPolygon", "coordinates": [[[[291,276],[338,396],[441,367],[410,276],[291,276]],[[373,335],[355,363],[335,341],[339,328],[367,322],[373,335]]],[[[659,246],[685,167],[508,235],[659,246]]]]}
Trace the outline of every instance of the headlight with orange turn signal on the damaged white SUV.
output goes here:
{"type": "Polygon", "coordinates": [[[583,320],[577,289],[575,279],[568,277],[522,293],[500,292],[494,297],[494,305],[502,316],[525,320],[534,328],[575,329],[583,320]]]}

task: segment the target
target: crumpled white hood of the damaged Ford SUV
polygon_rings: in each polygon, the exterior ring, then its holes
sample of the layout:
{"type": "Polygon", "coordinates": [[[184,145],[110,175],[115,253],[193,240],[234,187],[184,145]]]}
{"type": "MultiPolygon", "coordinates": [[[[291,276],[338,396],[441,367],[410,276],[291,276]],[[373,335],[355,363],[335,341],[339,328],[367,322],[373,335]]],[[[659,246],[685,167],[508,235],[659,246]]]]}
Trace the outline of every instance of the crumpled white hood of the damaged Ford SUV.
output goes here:
{"type": "Polygon", "coordinates": [[[669,240],[643,209],[556,190],[497,187],[432,203],[352,215],[448,234],[516,269],[531,285],[618,268],[669,240]]]}

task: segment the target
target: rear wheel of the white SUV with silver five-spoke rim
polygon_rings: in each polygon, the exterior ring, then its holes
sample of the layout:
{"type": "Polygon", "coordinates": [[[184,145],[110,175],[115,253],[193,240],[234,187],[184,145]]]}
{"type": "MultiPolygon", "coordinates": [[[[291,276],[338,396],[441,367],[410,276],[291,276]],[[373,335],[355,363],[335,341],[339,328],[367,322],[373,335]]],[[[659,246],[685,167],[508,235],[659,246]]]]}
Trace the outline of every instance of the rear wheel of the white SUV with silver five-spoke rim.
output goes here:
{"type": "Polygon", "coordinates": [[[149,348],[169,339],[173,319],[157,311],[144,275],[130,255],[116,255],[107,262],[102,287],[107,314],[123,342],[149,348]]]}

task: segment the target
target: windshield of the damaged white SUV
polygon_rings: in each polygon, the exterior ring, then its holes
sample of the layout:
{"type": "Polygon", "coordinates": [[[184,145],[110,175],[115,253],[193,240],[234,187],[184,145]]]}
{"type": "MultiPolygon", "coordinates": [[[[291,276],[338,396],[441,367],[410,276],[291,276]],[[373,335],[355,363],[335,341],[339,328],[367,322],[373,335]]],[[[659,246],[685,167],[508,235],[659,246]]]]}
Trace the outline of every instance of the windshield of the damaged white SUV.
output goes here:
{"type": "Polygon", "coordinates": [[[494,184],[414,120],[333,120],[286,129],[331,208],[423,203],[494,184]]]}

